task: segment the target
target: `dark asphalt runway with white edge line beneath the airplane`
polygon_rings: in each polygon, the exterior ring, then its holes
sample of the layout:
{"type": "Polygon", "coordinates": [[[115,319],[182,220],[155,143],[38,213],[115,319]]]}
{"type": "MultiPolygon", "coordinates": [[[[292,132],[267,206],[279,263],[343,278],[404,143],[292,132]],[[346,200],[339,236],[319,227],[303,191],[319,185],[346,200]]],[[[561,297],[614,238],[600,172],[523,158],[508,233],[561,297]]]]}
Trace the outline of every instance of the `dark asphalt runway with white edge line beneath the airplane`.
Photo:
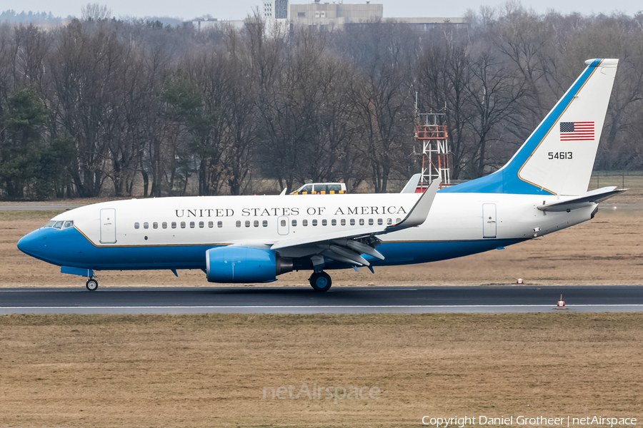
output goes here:
{"type": "Polygon", "coordinates": [[[0,289],[6,314],[641,312],[643,286],[0,289]],[[566,302],[557,309],[560,295],[566,302]]]}

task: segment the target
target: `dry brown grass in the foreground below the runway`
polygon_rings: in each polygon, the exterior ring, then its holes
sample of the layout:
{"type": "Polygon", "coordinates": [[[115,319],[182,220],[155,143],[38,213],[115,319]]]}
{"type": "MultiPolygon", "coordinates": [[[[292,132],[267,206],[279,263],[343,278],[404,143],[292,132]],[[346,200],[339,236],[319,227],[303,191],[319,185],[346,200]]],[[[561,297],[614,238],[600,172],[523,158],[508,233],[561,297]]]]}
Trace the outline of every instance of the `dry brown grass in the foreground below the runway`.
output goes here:
{"type": "Polygon", "coordinates": [[[2,316],[0,425],[642,417],[642,340],[637,314],[2,316]],[[382,393],[337,404],[263,399],[264,387],[304,382],[382,393]]]}

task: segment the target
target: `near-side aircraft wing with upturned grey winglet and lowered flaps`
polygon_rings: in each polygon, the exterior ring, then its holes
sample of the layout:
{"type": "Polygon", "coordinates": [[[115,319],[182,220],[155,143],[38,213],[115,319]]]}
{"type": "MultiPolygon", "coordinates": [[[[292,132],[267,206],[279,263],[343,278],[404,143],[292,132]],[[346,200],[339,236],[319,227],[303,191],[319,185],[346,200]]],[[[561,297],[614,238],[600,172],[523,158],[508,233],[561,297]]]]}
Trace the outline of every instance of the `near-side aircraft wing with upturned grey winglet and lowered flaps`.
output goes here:
{"type": "MultiPolygon", "coordinates": [[[[362,266],[369,265],[369,262],[362,258],[362,254],[371,255],[374,258],[384,260],[384,256],[375,250],[380,243],[378,235],[392,233],[397,230],[414,228],[427,220],[429,210],[437,190],[439,182],[434,181],[427,190],[420,195],[417,203],[409,211],[407,216],[394,225],[376,225],[359,229],[348,229],[321,235],[313,235],[304,238],[292,238],[277,240],[271,245],[271,250],[289,250],[294,248],[314,249],[313,254],[324,255],[343,263],[362,266]]],[[[313,261],[314,263],[314,261],[313,261]]]]}

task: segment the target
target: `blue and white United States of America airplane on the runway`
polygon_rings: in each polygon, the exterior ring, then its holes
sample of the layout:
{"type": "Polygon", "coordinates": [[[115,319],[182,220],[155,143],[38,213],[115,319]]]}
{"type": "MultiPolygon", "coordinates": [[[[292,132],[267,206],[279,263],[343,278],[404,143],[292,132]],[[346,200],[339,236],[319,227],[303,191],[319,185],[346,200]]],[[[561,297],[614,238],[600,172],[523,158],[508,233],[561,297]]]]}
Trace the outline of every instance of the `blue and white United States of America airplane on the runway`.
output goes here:
{"type": "MultiPolygon", "coordinates": [[[[272,282],[310,270],[427,263],[502,249],[594,218],[626,189],[587,191],[618,59],[590,59],[499,170],[415,193],[199,196],[96,203],[56,215],[22,252],[89,277],[102,270],[203,270],[209,282],[272,282]]],[[[178,275],[177,275],[178,276],[178,275]]]]}

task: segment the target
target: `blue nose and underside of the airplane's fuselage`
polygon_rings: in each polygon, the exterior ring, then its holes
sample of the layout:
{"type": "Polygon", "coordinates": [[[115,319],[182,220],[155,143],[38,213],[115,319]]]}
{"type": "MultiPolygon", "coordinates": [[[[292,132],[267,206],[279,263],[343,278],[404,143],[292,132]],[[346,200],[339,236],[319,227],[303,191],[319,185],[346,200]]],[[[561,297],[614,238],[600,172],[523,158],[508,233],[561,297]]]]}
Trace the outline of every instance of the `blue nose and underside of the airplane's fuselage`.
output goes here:
{"type": "MultiPolygon", "coordinates": [[[[366,256],[372,265],[408,265],[462,257],[512,245],[522,240],[414,241],[382,243],[384,260],[366,256]]],[[[59,266],[92,270],[204,269],[206,251],[216,245],[155,245],[97,247],[75,228],[34,230],[19,241],[24,253],[59,266]]],[[[329,260],[327,269],[344,269],[329,260]]]]}

